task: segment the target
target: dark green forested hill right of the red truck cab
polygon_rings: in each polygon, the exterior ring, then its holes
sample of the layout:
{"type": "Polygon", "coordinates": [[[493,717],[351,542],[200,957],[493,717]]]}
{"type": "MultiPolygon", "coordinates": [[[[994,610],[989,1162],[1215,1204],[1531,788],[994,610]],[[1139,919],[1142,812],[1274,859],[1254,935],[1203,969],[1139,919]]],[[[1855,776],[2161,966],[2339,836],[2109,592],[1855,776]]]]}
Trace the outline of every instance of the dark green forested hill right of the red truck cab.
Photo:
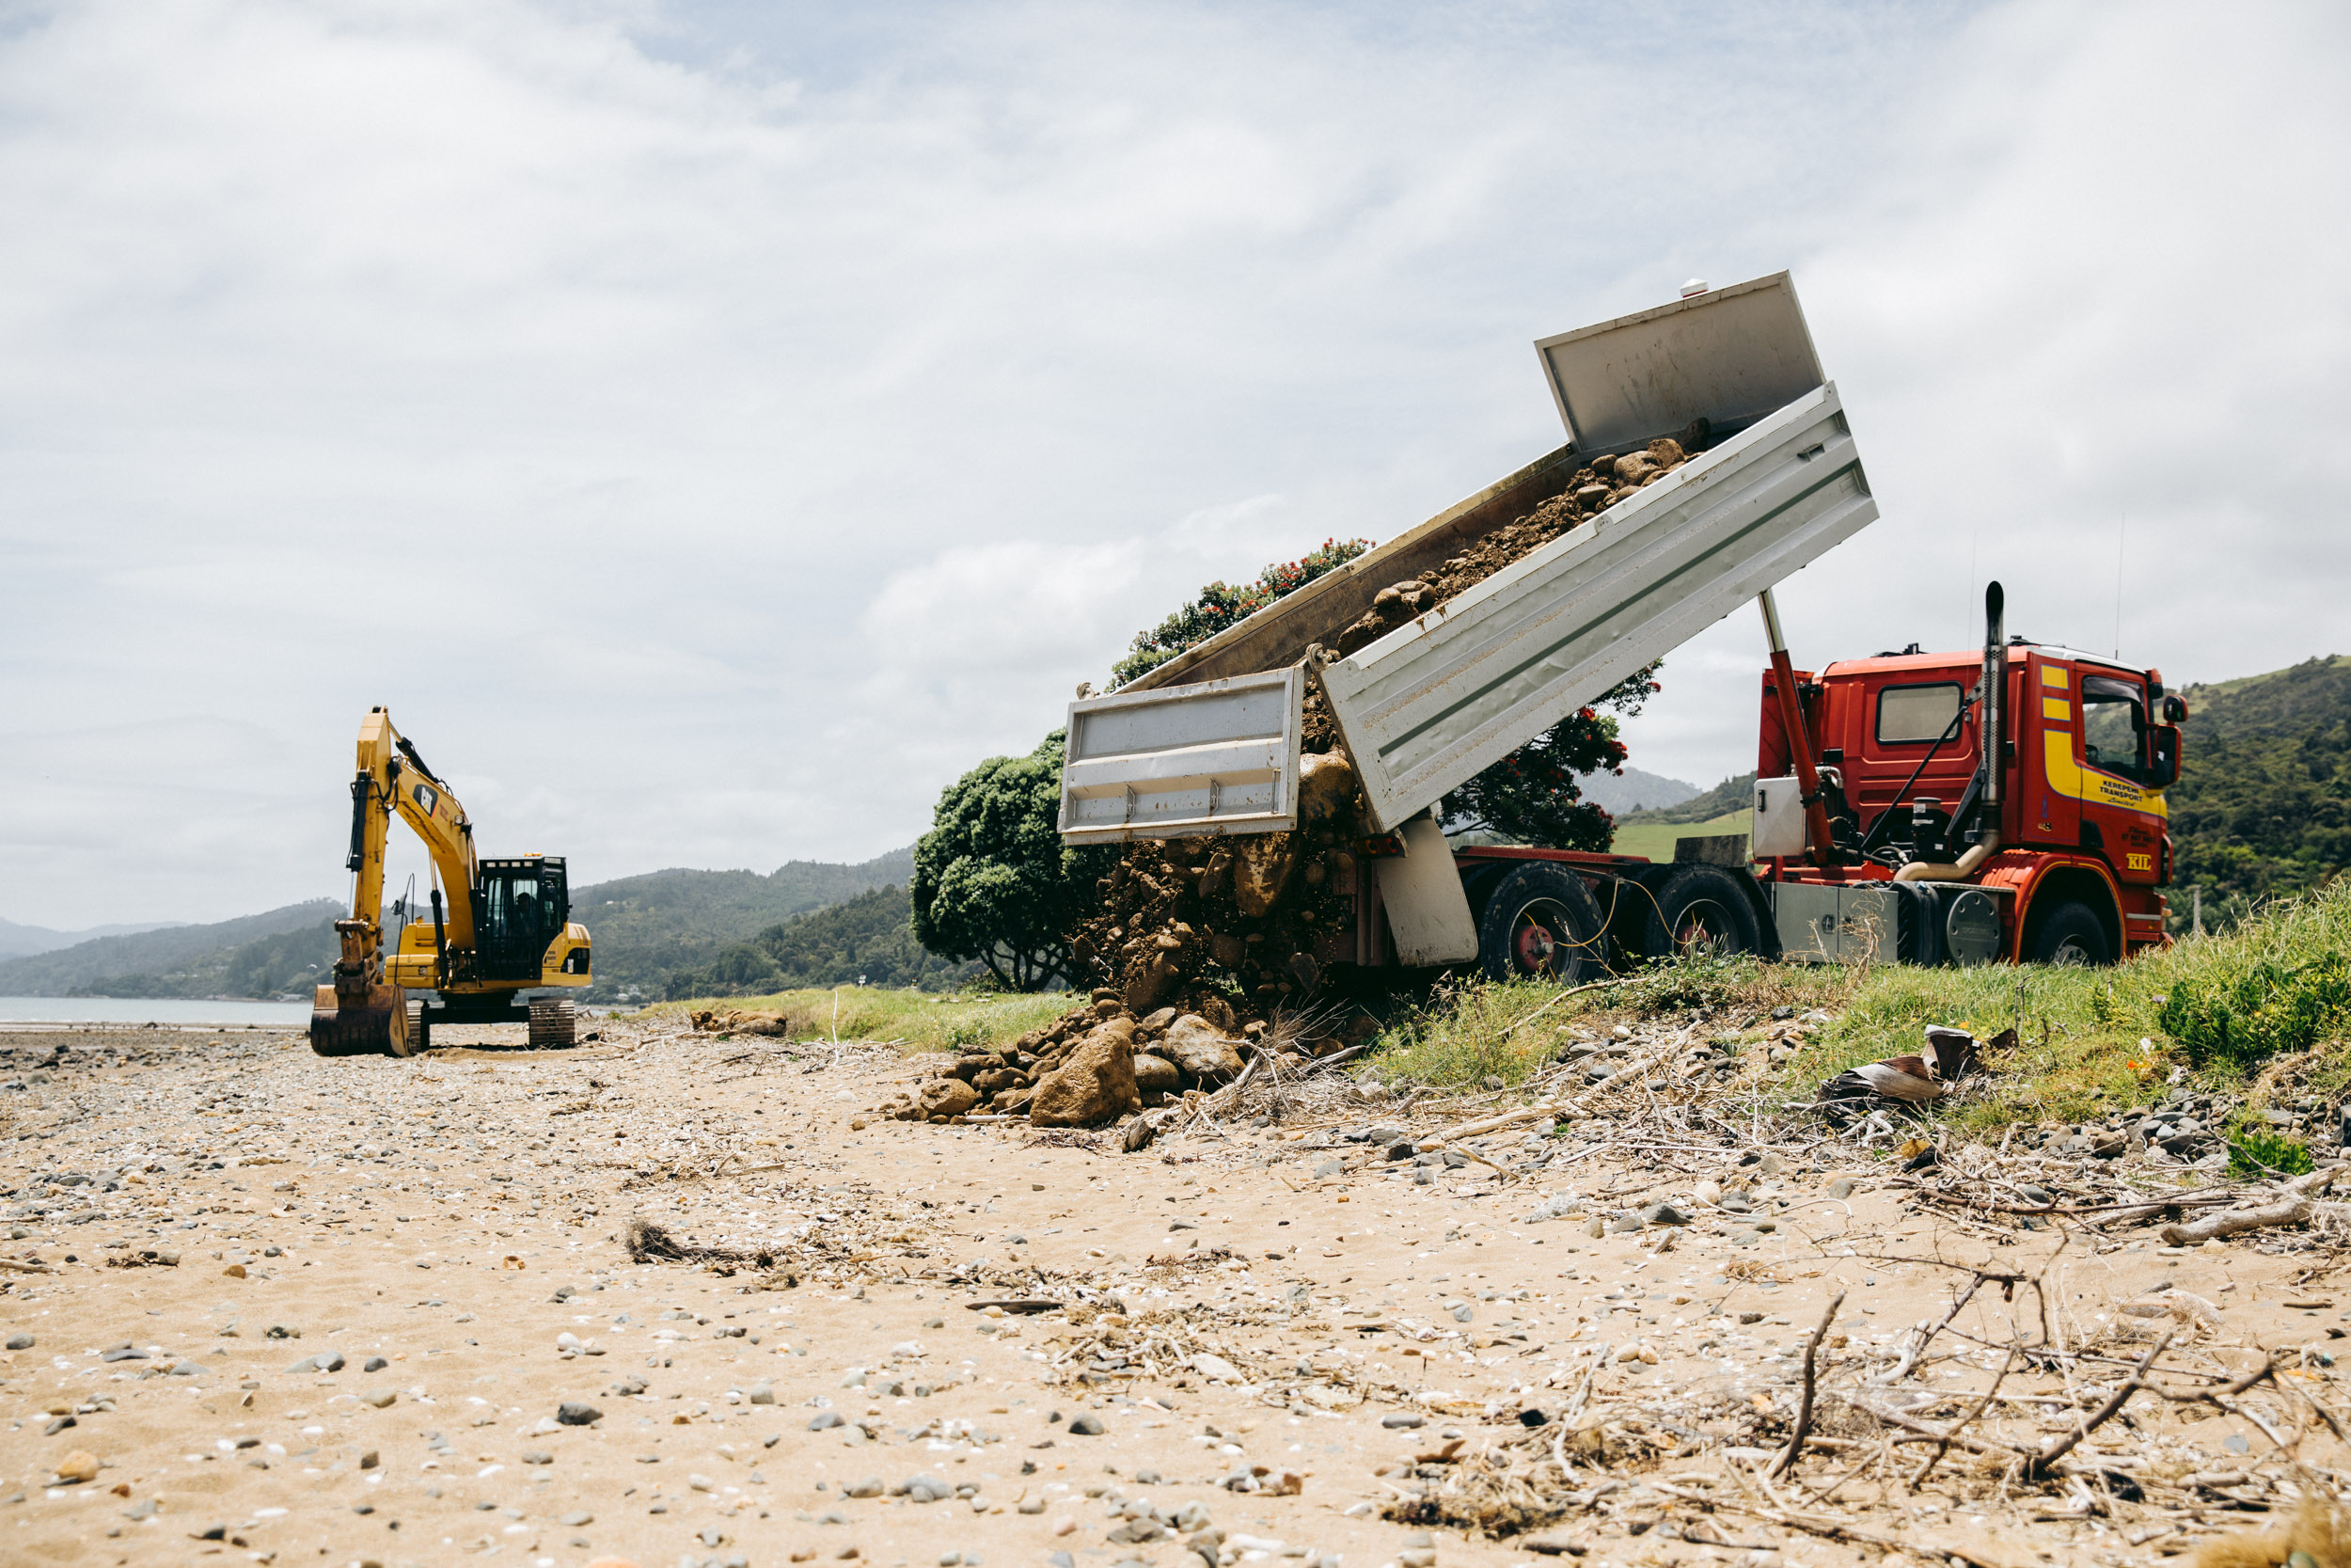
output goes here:
{"type": "Polygon", "coordinates": [[[2205,924],[2351,865],[2351,658],[2186,686],[2170,788],[2172,924],[2203,889],[2205,924]]]}

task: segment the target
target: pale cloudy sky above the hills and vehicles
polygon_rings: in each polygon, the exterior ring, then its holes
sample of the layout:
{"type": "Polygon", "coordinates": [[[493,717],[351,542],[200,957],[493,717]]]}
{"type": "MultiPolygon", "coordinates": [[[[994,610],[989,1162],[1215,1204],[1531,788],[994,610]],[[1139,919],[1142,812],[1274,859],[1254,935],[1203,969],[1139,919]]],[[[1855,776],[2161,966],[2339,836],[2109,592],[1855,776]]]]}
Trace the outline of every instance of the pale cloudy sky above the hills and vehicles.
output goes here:
{"type": "MultiPolygon", "coordinates": [[[[343,896],[371,705],[576,884],[863,860],[1211,578],[1794,270],[1799,663],[2351,651],[2339,5],[0,0],[0,917],[343,896]]],[[[1754,766],[1761,628],[1632,762],[1754,766]]],[[[421,865],[395,858],[395,889],[421,865]]]]}

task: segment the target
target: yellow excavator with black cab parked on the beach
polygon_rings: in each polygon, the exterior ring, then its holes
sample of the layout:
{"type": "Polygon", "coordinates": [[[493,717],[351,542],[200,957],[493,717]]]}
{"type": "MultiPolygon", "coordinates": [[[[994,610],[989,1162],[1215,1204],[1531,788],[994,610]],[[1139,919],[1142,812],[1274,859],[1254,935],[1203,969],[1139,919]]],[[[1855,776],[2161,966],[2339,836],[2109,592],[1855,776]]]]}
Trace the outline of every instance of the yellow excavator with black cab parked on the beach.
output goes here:
{"type": "Polygon", "coordinates": [[[350,919],[334,922],[343,957],[310,1001],[320,1056],[414,1056],[435,1023],[527,1023],[534,1046],[571,1044],[569,1001],[520,1001],[527,990],[588,985],[588,929],[571,922],[562,856],[480,860],[473,823],[449,785],[369,710],[360,776],[350,780],[350,919]],[[393,813],[433,853],[433,922],[395,905],[400,933],[383,950],[383,839],[393,813]],[[442,889],[449,889],[447,905],[442,889]],[[440,992],[440,1006],[409,992],[440,992]]]}

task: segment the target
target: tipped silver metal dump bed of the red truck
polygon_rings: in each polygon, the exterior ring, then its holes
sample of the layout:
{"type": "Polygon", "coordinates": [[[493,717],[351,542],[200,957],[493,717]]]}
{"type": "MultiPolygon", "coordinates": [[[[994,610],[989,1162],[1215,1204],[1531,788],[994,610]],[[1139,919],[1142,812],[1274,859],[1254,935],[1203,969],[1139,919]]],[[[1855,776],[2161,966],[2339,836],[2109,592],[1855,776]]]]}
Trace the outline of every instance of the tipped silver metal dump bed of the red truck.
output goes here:
{"type": "Polygon", "coordinates": [[[1331,646],[1382,588],[1434,576],[1594,458],[1707,421],[1690,463],[1321,670],[1378,825],[1418,816],[1876,517],[1787,273],[1535,350],[1575,440],[1126,689],[1072,703],[1065,839],[1293,827],[1293,790],[1272,780],[1295,778],[1295,717],[1270,736],[1265,703],[1248,703],[1248,733],[1227,738],[1206,710],[1244,712],[1232,682],[1331,646]],[[1246,743],[1248,780],[1215,773],[1230,743],[1246,743]]]}

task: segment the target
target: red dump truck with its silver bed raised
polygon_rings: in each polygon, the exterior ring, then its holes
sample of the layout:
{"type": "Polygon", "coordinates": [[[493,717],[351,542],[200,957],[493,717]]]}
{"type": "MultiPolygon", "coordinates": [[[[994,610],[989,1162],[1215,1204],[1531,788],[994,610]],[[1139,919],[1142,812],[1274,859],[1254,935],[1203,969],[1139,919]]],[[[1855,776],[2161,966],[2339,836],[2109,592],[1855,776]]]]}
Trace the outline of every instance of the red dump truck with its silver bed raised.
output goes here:
{"type": "Polygon", "coordinates": [[[2163,790],[2186,708],[2161,672],[2010,642],[1996,583],[1982,651],[1794,668],[1770,588],[1876,501],[1787,273],[1535,348],[1563,447],[1070,705],[1067,842],[1295,827],[1317,682],[1375,827],[1352,940],[1326,938],[1321,961],[1575,980],[1693,950],[2109,964],[2168,940],[2163,790]],[[1693,425],[1707,449],[1674,473],[1378,642],[1326,651],[1382,588],[1594,458],[1693,425]],[[1770,649],[1751,839],[1683,839],[1672,863],[1446,839],[1446,790],[1747,604],[1770,649]]]}

